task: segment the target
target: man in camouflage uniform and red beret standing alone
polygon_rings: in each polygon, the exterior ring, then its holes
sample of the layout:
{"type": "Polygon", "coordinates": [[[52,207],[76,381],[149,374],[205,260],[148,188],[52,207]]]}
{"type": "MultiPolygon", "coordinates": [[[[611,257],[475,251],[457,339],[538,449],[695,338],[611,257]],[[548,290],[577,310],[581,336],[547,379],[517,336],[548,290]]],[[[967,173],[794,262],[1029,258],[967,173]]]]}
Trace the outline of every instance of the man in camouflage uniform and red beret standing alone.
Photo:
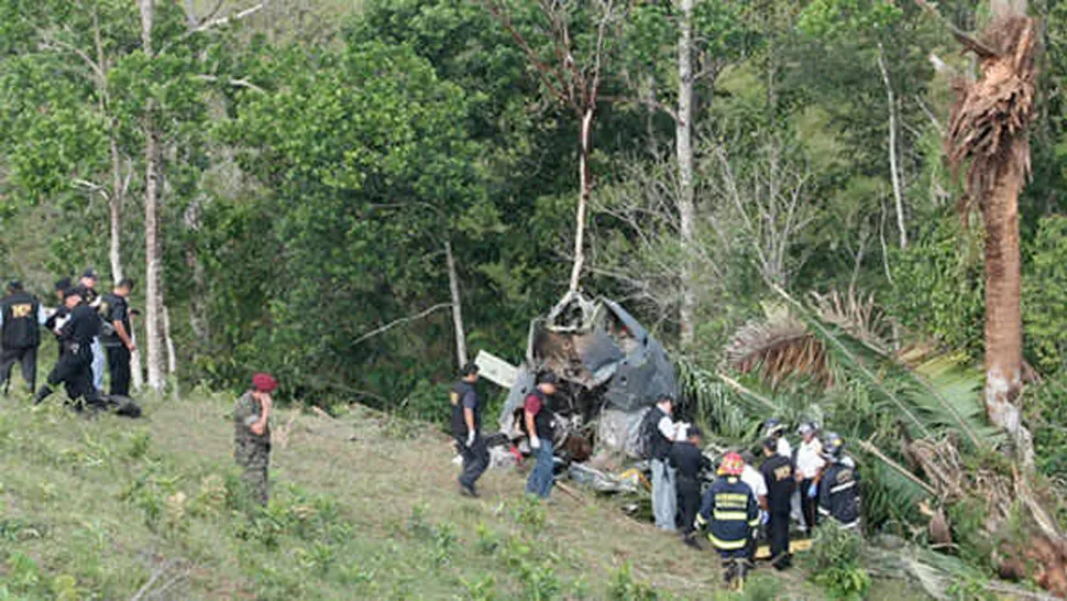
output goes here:
{"type": "Polygon", "coordinates": [[[244,469],[243,479],[261,504],[270,499],[267,468],[271,462],[271,393],[278,387],[272,375],[257,373],[252,376],[252,390],[244,393],[233,405],[234,454],[244,469]]]}

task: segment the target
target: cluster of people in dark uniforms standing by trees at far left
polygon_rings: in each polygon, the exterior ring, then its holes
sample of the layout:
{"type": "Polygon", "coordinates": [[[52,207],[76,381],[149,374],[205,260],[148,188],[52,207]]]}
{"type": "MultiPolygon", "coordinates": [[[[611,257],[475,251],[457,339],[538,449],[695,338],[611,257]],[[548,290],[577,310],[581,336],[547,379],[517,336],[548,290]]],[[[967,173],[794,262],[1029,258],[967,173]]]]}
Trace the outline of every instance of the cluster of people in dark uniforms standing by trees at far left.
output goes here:
{"type": "Polygon", "coordinates": [[[85,270],[77,284],[67,277],[59,280],[55,285],[59,306],[55,309],[44,307],[21,282],[8,283],[7,295],[0,299],[0,385],[6,394],[18,363],[35,404],[63,384],[75,406],[99,406],[106,370],[111,396],[129,397],[130,363],[136,350],[129,305],[133,282],[122,280],[103,295],[97,292],[97,282],[92,269],[85,270]],[[46,383],[37,389],[37,349],[43,330],[55,335],[59,357],[46,383]]]}

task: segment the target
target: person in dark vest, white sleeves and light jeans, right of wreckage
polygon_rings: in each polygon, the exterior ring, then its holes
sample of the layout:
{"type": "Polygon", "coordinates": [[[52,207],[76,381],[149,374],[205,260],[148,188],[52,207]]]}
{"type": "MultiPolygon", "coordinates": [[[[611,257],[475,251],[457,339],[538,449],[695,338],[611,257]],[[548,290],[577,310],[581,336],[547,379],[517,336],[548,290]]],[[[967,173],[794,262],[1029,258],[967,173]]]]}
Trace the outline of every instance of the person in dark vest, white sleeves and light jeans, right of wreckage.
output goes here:
{"type": "Polygon", "coordinates": [[[668,462],[671,445],[685,439],[688,424],[674,422],[674,398],[662,395],[656,406],[641,422],[641,436],[651,459],[652,468],[652,515],[656,527],[662,531],[678,529],[678,499],[674,484],[674,469],[668,462]]]}

